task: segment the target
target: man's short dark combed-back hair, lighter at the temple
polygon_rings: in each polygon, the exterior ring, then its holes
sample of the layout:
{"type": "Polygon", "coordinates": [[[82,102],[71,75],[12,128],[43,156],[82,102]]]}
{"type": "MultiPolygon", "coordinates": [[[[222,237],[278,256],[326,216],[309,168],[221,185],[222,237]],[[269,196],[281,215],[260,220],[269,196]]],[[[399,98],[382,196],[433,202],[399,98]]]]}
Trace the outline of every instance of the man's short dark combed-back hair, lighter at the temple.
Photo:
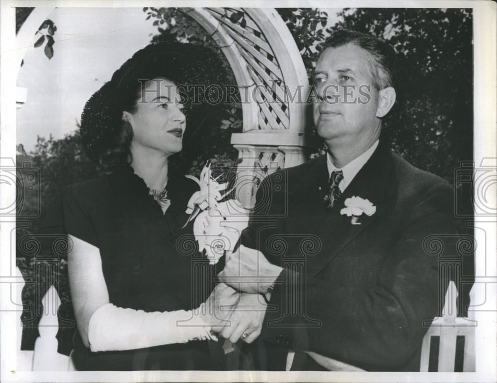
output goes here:
{"type": "Polygon", "coordinates": [[[354,44],[368,52],[373,85],[377,89],[395,87],[396,53],[392,46],[365,33],[340,29],[326,39],[321,52],[326,48],[338,48],[347,44],[354,44]]]}

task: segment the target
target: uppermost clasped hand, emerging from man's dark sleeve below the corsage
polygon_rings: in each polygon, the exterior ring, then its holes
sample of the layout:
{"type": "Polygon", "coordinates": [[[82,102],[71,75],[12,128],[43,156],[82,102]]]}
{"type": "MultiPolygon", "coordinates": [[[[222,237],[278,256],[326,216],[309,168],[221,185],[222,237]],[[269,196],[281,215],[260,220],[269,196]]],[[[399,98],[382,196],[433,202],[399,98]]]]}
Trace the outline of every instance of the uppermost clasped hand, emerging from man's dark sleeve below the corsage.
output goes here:
{"type": "Polygon", "coordinates": [[[282,270],[260,251],[241,245],[235,252],[226,253],[226,264],[218,277],[241,292],[265,294],[282,270]]]}

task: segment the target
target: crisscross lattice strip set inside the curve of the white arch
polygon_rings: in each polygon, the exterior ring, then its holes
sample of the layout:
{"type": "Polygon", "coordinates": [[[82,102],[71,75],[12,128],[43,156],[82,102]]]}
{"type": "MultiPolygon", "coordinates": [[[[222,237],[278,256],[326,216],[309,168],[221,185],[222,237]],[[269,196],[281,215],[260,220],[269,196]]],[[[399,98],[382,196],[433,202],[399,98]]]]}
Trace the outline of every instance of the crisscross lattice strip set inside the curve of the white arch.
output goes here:
{"type": "Polygon", "coordinates": [[[255,21],[244,12],[237,22],[230,16],[242,8],[206,8],[225,28],[245,59],[253,81],[249,97],[259,107],[259,129],[289,129],[288,102],[285,102],[283,74],[275,53],[255,21]],[[252,92],[252,89],[254,90],[252,92]]]}

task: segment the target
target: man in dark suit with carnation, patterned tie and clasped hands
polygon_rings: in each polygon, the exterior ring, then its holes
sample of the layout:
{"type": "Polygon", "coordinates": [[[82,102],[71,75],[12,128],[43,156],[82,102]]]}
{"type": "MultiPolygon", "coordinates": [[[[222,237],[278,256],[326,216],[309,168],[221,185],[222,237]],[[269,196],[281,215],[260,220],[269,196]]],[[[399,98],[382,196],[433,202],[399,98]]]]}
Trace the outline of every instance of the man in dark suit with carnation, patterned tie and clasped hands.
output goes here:
{"type": "Polygon", "coordinates": [[[258,335],[261,369],[419,371],[442,299],[423,243],[456,234],[453,190],[379,140],[396,99],[394,56],[357,32],[326,42],[313,115],[328,153],[264,180],[244,233],[260,252],[241,246],[220,274],[268,301],[221,330],[232,341],[258,335]],[[253,278],[229,278],[238,275],[253,278]]]}

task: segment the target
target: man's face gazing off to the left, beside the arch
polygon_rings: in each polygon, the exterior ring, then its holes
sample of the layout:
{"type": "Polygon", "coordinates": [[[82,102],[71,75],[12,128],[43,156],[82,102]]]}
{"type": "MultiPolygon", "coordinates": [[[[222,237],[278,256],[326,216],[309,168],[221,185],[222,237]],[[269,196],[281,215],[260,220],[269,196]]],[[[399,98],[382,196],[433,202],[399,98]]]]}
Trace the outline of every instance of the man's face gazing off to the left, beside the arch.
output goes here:
{"type": "Polygon", "coordinates": [[[327,48],[314,75],[319,99],[314,123],[325,141],[354,143],[376,140],[379,91],[373,86],[368,53],[353,44],[327,48]]]}

